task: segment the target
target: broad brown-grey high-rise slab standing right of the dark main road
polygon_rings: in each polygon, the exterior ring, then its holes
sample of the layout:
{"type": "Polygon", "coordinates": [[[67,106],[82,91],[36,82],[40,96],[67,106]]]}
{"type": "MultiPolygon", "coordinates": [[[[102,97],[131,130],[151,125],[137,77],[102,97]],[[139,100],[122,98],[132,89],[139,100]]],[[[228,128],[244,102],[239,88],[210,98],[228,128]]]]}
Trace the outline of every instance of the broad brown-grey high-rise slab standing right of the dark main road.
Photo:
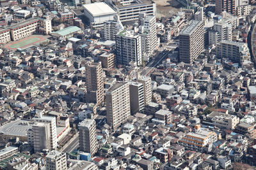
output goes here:
{"type": "Polygon", "coordinates": [[[180,62],[193,63],[204,50],[204,22],[191,20],[180,31],[179,40],[180,62]]]}

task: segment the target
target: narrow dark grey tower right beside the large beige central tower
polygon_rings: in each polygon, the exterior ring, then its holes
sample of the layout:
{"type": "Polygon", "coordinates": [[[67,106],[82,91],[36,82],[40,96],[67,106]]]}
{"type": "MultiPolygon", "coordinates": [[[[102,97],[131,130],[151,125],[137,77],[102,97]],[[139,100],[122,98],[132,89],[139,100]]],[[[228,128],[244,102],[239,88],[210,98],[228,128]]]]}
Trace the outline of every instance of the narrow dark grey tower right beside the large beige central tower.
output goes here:
{"type": "Polygon", "coordinates": [[[129,86],[131,114],[133,115],[144,109],[144,89],[143,84],[137,82],[131,82],[129,86]]]}

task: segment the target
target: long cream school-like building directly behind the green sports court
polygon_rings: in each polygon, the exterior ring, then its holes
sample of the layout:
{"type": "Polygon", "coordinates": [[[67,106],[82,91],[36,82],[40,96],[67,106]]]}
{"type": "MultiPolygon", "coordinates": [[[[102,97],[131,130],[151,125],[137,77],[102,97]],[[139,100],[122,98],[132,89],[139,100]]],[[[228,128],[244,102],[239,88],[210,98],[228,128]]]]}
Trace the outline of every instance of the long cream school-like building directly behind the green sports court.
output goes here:
{"type": "Polygon", "coordinates": [[[10,26],[10,36],[12,41],[31,36],[36,31],[38,25],[37,18],[31,18],[18,24],[10,26]]]}

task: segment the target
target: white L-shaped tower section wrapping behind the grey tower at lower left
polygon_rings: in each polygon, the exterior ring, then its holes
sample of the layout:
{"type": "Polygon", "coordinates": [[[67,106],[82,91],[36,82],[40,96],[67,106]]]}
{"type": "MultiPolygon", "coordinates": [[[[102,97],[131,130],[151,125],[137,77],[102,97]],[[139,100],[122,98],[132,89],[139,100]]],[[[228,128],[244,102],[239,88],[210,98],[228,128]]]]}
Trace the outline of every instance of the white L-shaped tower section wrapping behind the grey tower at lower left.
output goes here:
{"type": "Polygon", "coordinates": [[[41,116],[41,117],[33,118],[33,121],[50,125],[51,149],[56,148],[57,145],[58,145],[58,143],[57,143],[57,132],[56,132],[56,118],[55,117],[41,116]]]}

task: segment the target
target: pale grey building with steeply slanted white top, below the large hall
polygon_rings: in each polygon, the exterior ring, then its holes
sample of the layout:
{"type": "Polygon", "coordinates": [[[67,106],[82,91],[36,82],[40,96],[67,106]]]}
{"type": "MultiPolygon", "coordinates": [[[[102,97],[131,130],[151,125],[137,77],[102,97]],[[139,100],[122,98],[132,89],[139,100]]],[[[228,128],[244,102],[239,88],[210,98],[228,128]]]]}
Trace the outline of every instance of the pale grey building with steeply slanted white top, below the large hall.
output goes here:
{"type": "Polygon", "coordinates": [[[115,20],[108,20],[104,22],[104,39],[116,40],[116,34],[124,30],[124,26],[120,22],[118,16],[115,15],[115,20]]]}

